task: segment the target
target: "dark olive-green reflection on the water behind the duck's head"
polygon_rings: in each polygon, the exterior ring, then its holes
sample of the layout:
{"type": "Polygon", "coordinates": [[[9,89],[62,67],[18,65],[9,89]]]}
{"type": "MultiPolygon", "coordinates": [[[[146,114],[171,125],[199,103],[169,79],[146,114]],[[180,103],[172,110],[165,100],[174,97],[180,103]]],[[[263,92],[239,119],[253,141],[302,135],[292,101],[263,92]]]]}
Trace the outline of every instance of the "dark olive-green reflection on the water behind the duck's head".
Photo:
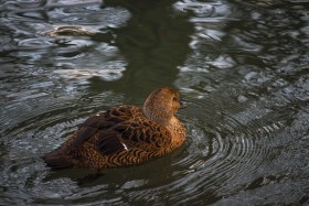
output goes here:
{"type": "MultiPolygon", "coordinates": [[[[177,67],[182,65],[189,47],[193,24],[189,13],[177,13],[175,0],[106,0],[105,7],[122,7],[131,18],[121,28],[110,28],[116,36],[113,43],[127,61],[124,76],[116,82],[90,78],[90,90],[103,88],[128,91],[130,96],[171,86],[177,78],[177,67]],[[146,90],[145,90],[146,89],[146,90]]],[[[93,36],[98,41],[97,35],[93,36]]]]}

